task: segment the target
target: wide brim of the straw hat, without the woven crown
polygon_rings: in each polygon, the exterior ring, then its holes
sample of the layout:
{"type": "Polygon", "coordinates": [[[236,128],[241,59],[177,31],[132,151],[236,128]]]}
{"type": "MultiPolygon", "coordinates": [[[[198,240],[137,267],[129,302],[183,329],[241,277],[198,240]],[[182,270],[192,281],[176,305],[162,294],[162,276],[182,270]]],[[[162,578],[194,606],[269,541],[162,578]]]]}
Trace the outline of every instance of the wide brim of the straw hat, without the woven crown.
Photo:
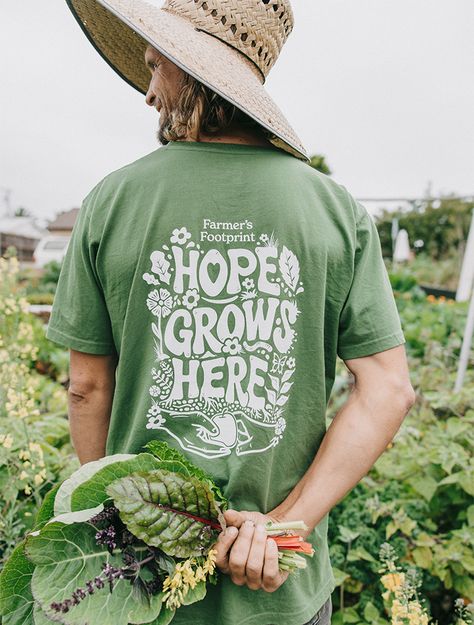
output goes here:
{"type": "Polygon", "coordinates": [[[270,141],[305,161],[309,157],[262,84],[257,66],[188,20],[143,0],[66,0],[89,41],[129,85],[146,94],[150,44],[269,132],[270,141]]]}

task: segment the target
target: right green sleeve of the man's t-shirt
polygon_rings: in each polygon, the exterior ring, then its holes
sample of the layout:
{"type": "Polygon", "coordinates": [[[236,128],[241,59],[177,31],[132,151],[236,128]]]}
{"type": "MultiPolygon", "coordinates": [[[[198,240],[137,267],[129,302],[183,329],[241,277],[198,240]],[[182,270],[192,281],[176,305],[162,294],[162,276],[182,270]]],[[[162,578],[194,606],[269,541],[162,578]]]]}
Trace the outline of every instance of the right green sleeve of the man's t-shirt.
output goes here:
{"type": "Polygon", "coordinates": [[[374,220],[356,202],[354,272],[339,317],[337,354],[343,360],[369,356],[405,343],[374,220]]]}

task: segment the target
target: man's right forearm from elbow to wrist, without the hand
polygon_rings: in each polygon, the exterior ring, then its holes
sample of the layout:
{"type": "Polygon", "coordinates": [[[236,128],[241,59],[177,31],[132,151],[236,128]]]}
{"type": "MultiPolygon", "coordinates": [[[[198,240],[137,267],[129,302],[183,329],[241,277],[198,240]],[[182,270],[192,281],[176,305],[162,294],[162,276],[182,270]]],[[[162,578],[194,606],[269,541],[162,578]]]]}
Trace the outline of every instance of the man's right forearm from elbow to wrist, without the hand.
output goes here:
{"type": "Polygon", "coordinates": [[[272,516],[303,519],[309,530],[367,474],[413,405],[408,393],[355,387],[334,418],[311,466],[272,516]]]}

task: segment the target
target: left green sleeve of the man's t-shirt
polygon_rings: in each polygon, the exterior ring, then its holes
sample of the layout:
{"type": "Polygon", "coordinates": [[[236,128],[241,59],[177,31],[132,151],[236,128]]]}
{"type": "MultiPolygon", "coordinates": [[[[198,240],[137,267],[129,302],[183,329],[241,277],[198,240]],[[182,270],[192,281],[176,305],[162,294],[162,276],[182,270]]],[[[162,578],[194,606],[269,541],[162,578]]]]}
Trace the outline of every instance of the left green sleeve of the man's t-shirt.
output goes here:
{"type": "Polygon", "coordinates": [[[90,217],[98,186],[84,199],[63,260],[46,337],[89,354],[112,354],[115,346],[104,293],[97,275],[97,245],[90,217]]]}

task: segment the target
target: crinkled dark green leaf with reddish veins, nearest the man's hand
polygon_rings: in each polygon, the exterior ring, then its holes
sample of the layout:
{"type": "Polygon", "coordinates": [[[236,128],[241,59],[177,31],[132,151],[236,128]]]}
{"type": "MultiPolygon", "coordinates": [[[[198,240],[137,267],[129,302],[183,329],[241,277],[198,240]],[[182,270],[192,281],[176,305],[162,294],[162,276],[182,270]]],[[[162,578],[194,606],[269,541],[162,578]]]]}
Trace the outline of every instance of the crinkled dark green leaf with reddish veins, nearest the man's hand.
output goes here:
{"type": "Polygon", "coordinates": [[[107,487],[129,531],[179,558],[201,555],[216,540],[220,509],[206,482],[164,469],[122,477],[107,487]]]}

